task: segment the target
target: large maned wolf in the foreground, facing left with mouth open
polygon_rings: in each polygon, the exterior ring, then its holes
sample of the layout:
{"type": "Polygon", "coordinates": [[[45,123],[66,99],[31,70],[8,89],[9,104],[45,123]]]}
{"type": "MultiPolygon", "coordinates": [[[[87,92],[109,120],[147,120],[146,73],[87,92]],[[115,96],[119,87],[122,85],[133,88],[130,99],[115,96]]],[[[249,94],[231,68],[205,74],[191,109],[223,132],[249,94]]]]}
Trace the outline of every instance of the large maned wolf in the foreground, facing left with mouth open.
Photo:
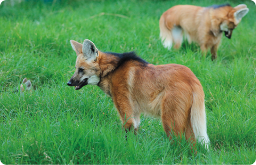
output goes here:
{"type": "Polygon", "coordinates": [[[138,130],[141,113],[162,119],[168,137],[185,134],[208,148],[204,91],[188,67],[152,65],[135,53],[100,52],[90,40],[71,40],[76,71],[67,83],[80,90],[97,85],[109,95],[126,130],[138,130]]]}

